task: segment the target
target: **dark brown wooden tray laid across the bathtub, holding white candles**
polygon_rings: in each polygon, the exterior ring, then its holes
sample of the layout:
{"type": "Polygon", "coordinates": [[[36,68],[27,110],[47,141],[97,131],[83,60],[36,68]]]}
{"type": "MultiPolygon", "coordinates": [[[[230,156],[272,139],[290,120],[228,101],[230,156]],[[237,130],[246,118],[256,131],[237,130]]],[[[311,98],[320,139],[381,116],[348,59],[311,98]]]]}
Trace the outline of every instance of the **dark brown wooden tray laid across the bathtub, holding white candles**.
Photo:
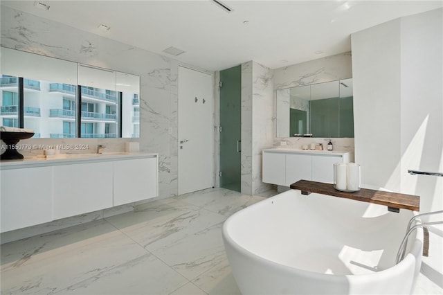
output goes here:
{"type": "Polygon", "coordinates": [[[325,184],[323,182],[308,180],[299,180],[296,183],[291,184],[290,187],[296,190],[301,190],[303,195],[309,195],[309,193],[319,193],[322,195],[355,199],[361,202],[388,206],[388,210],[393,212],[399,212],[400,209],[412,211],[420,210],[420,197],[416,195],[383,192],[381,190],[369,190],[368,188],[361,188],[357,192],[347,193],[336,190],[333,184],[325,184]]]}

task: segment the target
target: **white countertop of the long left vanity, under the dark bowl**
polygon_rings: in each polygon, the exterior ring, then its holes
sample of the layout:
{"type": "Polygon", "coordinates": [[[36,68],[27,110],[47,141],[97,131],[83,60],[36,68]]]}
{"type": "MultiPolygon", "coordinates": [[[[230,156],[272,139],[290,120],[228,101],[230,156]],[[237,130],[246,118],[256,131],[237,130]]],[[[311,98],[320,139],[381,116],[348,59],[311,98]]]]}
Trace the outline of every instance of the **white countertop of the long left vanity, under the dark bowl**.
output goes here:
{"type": "Polygon", "coordinates": [[[6,160],[0,162],[1,170],[33,168],[44,166],[69,165],[76,163],[97,163],[127,159],[143,159],[159,157],[156,153],[109,152],[103,154],[55,154],[48,157],[25,157],[22,160],[6,160]]]}

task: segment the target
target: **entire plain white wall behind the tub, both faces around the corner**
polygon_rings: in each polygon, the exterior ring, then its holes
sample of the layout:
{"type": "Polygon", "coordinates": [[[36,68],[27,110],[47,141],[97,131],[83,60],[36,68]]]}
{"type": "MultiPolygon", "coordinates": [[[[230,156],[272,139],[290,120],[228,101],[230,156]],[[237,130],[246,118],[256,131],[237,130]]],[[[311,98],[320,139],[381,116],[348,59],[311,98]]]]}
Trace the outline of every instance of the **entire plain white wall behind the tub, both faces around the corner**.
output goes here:
{"type": "Polygon", "coordinates": [[[420,195],[442,210],[442,9],[352,34],[355,157],[363,184],[420,195]]]}

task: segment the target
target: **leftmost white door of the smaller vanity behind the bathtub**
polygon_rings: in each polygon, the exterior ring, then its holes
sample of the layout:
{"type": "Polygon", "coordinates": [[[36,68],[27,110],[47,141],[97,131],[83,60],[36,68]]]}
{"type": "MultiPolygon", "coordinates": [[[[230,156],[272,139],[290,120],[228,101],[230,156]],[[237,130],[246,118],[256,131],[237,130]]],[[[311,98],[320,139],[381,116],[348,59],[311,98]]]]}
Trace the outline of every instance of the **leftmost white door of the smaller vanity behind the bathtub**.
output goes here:
{"type": "Polygon", "coordinates": [[[263,152],[263,176],[266,184],[286,184],[286,155],[278,152],[263,152]]]}

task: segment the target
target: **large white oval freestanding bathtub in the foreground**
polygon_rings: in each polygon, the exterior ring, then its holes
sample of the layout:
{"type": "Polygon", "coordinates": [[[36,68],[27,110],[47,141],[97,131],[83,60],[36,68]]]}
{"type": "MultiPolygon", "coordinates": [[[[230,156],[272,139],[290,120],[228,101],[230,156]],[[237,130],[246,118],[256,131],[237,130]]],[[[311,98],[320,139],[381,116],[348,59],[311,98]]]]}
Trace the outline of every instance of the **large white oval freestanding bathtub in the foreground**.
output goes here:
{"type": "Polygon", "coordinates": [[[242,294],[410,294],[423,231],[395,256],[413,212],[288,190],[226,220],[223,238],[242,294]]]}

